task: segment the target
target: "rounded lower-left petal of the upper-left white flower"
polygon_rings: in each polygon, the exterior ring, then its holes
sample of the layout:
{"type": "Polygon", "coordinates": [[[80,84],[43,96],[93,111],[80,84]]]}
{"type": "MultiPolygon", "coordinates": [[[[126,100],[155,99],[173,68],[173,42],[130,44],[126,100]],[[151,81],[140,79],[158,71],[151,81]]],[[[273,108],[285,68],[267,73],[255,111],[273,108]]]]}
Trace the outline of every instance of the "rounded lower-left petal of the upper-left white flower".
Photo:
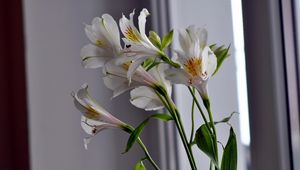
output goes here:
{"type": "Polygon", "coordinates": [[[80,56],[84,68],[102,67],[111,58],[107,51],[93,44],[85,45],[80,56]]]}

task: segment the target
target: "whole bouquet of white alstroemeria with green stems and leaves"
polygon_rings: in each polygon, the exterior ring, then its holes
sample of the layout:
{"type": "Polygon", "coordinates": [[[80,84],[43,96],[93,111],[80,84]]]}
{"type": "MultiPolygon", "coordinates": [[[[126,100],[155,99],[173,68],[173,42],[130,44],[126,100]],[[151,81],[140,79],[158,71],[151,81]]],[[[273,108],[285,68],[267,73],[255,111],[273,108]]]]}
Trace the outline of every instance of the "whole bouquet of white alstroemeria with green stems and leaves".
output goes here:
{"type": "Polygon", "coordinates": [[[134,11],[122,16],[119,20],[123,34],[124,47],[121,46],[120,32],[116,21],[109,14],[93,19],[91,25],[85,26],[85,33],[90,44],[81,50],[82,65],[85,68],[102,68],[104,84],[117,97],[130,90],[130,102],[146,111],[163,109],[166,113],[151,114],[136,128],[114,117],[102,108],[88,93],[86,84],[72,93],[75,106],[83,113],[81,125],[90,137],[84,139],[85,147],[93,136],[107,128],[121,129],[129,133],[125,152],[137,142],[145,153],[135,169],[146,169],[143,161],[147,160],[155,169],[159,169],[151,158],[149,151],[140,139],[143,128],[150,119],[174,121],[182,144],[185,148],[191,169],[197,169],[192,146],[197,145],[200,151],[210,158],[210,169],[237,169],[237,142],[233,128],[228,123],[229,117],[214,121],[208,94],[208,80],[213,77],[225,58],[229,56],[229,47],[207,44],[207,31],[204,28],[189,26],[179,31],[180,49],[174,49],[175,57],[165,52],[173,40],[173,31],[162,39],[154,31],[145,33],[147,9],[142,9],[138,17],[138,28],[134,25],[134,11]],[[175,59],[176,58],[176,59],[175,59]],[[172,84],[185,85],[191,96],[192,131],[188,139],[181,121],[181,114],[171,98],[172,84]],[[196,93],[201,96],[201,107],[196,93]],[[204,121],[194,130],[194,107],[204,121]],[[226,145],[218,140],[216,124],[227,123],[230,128],[226,145]],[[223,149],[219,161],[218,143],[223,149]]]}

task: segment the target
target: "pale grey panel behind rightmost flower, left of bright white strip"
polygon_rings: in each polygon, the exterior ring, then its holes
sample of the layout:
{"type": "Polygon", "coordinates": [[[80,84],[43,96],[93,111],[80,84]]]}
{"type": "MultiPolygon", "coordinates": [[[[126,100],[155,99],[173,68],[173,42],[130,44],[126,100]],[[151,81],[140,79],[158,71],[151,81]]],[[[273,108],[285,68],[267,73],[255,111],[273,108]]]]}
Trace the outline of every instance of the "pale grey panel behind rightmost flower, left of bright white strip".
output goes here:
{"type": "MultiPolygon", "coordinates": [[[[219,45],[233,44],[233,28],[231,17],[230,0],[170,0],[172,27],[174,29],[186,28],[188,25],[196,25],[205,27],[208,30],[208,43],[217,43],[219,45]]],[[[178,45],[177,45],[178,46],[178,45]]],[[[233,45],[231,46],[233,47],[233,45]]],[[[209,80],[209,94],[211,97],[211,107],[214,113],[215,120],[221,120],[228,116],[233,111],[238,111],[237,97],[237,77],[235,64],[235,51],[231,49],[231,56],[225,60],[219,72],[209,80]]],[[[190,134],[191,118],[190,109],[192,98],[186,87],[181,85],[176,86],[176,103],[179,105],[179,110],[183,114],[183,121],[186,125],[186,130],[190,134]]],[[[197,109],[195,109],[197,110],[197,109]]],[[[200,121],[200,113],[195,113],[196,124],[199,126],[203,122],[200,121]],[[197,120],[198,119],[198,120],[197,120]]],[[[235,115],[231,120],[237,136],[240,137],[240,129],[238,115],[235,115]]],[[[196,128],[198,127],[196,126],[196,128]]],[[[226,144],[229,128],[226,125],[217,126],[219,139],[226,144]]],[[[240,140],[240,139],[239,139],[240,140]]],[[[240,142],[239,142],[240,143],[240,142]]],[[[179,151],[182,153],[180,169],[189,167],[189,163],[184,155],[185,151],[179,143],[179,151]]],[[[239,144],[240,145],[240,144],[239,144]]],[[[200,169],[209,169],[209,160],[204,154],[196,151],[196,162],[200,169]]],[[[220,150],[221,148],[219,148],[220,150]]],[[[220,158],[221,159],[221,158],[220,158]]],[[[238,169],[245,169],[245,155],[243,148],[239,146],[239,162],[238,169]]]]}

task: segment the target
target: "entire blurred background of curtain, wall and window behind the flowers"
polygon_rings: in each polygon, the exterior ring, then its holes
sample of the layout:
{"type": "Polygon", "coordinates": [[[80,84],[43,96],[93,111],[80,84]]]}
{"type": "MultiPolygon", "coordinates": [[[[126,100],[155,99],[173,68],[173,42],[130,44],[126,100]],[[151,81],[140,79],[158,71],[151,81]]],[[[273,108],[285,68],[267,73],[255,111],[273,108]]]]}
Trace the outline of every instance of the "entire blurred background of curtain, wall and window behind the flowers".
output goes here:
{"type": "MultiPolygon", "coordinates": [[[[128,93],[111,100],[100,69],[84,69],[80,49],[85,24],[111,14],[119,20],[148,8],[147,30],[159,35],[189,25],[205,27],[208,42],[231,46],[231,56],[209,83],[220,120],[233,111],[238,170],[300,169],[298,0],[11,0],[0,2],[1,170],[133,169],[138,147],[121,154],[128,135],[106,130],[84,149],[86,134],[71,92],[90,92],[117,118],[138,125],[149,113],[134,108],[128,93]]],[[[175,38],[172,44],[178,47],[175,38]]],[[[174,100],[190,131],[192,98],[174,87],[174,100]]],[[[200,116],[196,113],[197,124],[200,116]]],[[[228,127],[218,126],[226,142],[228,127]]],[[[189,134],[189,133],[188,133],[189,134]]],[[[151,121],[142,139],[162,170],[189,169],[172,123],[151,121]]],[[[196,150],[196,148],[195,148],[196,150]]],[[[208,158],[195,152],[201,169],[208,158]],[[203,163],[204,162],[204,163],[203,163]]],[[[146,164],[148,166],[148,164],[146,164]]],[[[149,166],[150,167],[150,166],[149,166]]],[[[150,168],[151,169],[151,168],[150,168]]]]}

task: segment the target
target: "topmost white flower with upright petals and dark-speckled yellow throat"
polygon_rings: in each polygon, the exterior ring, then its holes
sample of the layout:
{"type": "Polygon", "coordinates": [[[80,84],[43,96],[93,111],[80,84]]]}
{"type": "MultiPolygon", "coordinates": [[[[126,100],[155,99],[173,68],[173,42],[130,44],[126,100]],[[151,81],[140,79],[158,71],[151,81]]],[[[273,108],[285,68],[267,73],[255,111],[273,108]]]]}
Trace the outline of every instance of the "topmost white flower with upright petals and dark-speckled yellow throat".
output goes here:
{"type": "Polygon", "coordinates": [[[130,78],[134,71],[143,63],[146,58],[156,57],[160,50],[155,47],[145,33],[146,17],[150,15],[147,9],[142,9],[138,17],[139,30],[134,26],[134,11],[130,13],[129,19],[124,15],[120,19],[120,29],[125,36],[124,53],[134,61],[128,70],[127,77],[130,78]]]}

